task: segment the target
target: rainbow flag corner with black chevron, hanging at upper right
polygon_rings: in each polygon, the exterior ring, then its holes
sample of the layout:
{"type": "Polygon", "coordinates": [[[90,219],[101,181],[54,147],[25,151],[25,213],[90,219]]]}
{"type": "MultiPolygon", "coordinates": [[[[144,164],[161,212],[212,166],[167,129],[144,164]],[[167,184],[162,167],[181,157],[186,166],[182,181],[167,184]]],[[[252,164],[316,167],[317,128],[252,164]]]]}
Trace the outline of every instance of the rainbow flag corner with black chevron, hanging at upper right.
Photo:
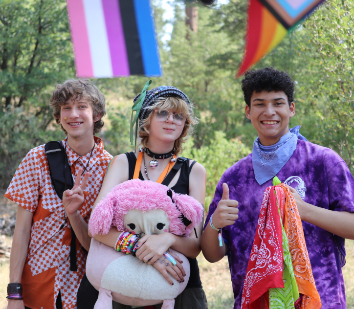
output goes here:
{"type": "Polygon", "coordinates": [[[240,77],[279,44],[324,0],[249,0],[246,46],[240,77]]]}

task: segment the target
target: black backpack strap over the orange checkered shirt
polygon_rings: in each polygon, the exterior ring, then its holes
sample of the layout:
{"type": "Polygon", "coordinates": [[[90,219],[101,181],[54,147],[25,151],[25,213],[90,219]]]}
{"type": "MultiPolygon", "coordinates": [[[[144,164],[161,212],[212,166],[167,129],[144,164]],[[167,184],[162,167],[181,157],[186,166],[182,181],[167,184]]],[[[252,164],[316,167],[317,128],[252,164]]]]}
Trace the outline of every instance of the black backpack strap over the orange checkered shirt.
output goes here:
{"type": "MultiPolygon", "coordinates": [[[[71,176],[71,168],[67,159],[63,144],[58,141],[51,141],[44,145],[45,155],[47,157],[50,178],[57,196],[63,200],[65,190],[71,190],[74,186],[74,180],[71,176]]],[[[64,211],[65,212],[65,211],[64,211]]],[[[64,214],[65,215],[65,214],[64,214]]],[[[65,221],[66,223],[66,221],[65,221]]],[[[62,224],[60,229],[65,225],[62,224]]],[[[70,270],[77,271],[76,264],[76,235],[71,226],[70,243],[70,270]]]]}

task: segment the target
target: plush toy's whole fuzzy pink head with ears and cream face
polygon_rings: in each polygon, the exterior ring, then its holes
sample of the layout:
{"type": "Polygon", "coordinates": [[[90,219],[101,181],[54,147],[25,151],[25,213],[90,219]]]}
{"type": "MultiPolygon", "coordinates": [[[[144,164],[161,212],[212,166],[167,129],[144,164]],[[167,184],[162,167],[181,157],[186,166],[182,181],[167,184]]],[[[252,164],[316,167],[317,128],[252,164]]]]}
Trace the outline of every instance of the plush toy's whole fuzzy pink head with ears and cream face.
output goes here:
{"type": "Polygon", "coordinates": [[[188,195],[154,181],[131,179],[115,186],[98,203],[88,228],[93,236],[106,235],[115,226],[137,235],[170,232],[188,237],[203,220],[203,212],[199,201],[188,195]]]}

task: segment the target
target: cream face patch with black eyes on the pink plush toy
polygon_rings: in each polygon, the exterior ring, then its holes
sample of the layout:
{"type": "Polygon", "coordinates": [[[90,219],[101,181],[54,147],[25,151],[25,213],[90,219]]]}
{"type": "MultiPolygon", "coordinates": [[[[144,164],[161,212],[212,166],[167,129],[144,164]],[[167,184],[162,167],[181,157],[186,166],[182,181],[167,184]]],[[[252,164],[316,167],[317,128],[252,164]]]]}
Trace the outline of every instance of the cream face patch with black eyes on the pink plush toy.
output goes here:
{"type": "Polygon", "coordinates": [[[123,224],[128,231],[135,232],[140,238],[145,234],[162,234],[168,232],[170,228],[168,215],[162,209],[148,212],[132,209],[123,216],[123,224]]]}

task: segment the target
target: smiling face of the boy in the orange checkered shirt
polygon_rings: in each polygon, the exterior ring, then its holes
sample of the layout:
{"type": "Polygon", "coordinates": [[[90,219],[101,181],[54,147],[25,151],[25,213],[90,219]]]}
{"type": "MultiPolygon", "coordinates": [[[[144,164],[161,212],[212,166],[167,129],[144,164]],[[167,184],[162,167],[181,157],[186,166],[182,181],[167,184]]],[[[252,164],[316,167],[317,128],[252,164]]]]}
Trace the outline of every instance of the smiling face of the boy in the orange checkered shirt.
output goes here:
{"type": "Polygon", "coordinates": [[[91,104],[81,97],[76,100],[69,99],[61,107],[60,123],[69,139],[93,139],[93,127],[99,119],[100,115],[93,119],[91,104]]]}

